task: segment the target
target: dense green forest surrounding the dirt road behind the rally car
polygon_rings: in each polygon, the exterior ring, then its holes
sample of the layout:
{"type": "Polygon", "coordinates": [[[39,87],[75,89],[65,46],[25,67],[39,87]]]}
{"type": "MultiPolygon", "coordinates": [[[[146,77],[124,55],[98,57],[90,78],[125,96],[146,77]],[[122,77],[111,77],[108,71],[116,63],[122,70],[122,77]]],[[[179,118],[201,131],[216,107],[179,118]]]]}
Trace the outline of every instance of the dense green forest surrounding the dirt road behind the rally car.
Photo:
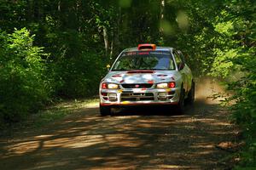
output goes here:
{"type": "Polygon", "coordinates": [[[0,0],[0,123],[96,95],[106,65],[151,42],[224,84],[246,139],[236,168],[256,167],[255,11],[253,0],[0,0]]]}

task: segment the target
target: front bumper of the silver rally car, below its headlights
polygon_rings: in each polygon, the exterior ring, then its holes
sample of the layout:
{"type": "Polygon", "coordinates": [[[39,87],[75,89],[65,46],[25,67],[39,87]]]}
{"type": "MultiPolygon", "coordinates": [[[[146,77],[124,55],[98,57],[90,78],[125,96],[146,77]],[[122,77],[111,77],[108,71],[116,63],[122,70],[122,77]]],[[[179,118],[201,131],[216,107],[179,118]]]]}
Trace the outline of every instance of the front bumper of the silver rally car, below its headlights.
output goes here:
{"type": "Polygon", "coordinates": [[[177,105],[180,88],[100,89],[100,105],[177,105]]]}

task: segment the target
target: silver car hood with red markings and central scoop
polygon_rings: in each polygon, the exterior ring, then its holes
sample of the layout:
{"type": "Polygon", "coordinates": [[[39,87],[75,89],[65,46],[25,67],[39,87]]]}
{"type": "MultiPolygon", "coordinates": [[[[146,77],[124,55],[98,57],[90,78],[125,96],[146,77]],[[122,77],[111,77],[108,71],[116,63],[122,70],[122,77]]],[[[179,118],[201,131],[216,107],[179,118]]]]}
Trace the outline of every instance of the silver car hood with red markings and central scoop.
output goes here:
{"type": "Polygon", "coordinates": [[[177,71],[109,71],[102,82],[141,84],[174,82],[175,80],[177,80],[177,71]]]}

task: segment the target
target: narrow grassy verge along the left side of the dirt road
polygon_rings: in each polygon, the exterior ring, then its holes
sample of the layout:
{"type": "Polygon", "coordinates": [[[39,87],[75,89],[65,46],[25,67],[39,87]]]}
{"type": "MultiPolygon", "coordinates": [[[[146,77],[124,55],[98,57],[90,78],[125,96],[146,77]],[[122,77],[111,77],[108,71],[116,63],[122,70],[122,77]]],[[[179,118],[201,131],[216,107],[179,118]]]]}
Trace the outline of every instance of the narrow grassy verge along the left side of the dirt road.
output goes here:
{"type": "Polygon", "coordinates": [[[69,99],[61,100],[53,105],[45,107],[26,117],[21,122],[12,124],[1,124],[0,136],[11,135],[20,129],[39,128],[48,125],[51,122],[57,122],[66,116],[73,115],[84,108],[96,107],[99,103],[98,97],[90,97],[88,99],[69,99]]]}

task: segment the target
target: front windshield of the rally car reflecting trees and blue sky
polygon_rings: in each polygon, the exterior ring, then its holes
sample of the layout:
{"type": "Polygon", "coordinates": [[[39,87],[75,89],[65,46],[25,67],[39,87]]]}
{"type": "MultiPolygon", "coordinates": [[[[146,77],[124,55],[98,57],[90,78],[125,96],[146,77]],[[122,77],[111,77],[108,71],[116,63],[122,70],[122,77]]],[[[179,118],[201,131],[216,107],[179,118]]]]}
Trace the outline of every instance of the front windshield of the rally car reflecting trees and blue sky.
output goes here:
{"type": "Polygon", "coordinates": [[[132,70],[175,70],[172,55],[169,52],[125,52],[113,65],[112,71],[132,70]]]}

